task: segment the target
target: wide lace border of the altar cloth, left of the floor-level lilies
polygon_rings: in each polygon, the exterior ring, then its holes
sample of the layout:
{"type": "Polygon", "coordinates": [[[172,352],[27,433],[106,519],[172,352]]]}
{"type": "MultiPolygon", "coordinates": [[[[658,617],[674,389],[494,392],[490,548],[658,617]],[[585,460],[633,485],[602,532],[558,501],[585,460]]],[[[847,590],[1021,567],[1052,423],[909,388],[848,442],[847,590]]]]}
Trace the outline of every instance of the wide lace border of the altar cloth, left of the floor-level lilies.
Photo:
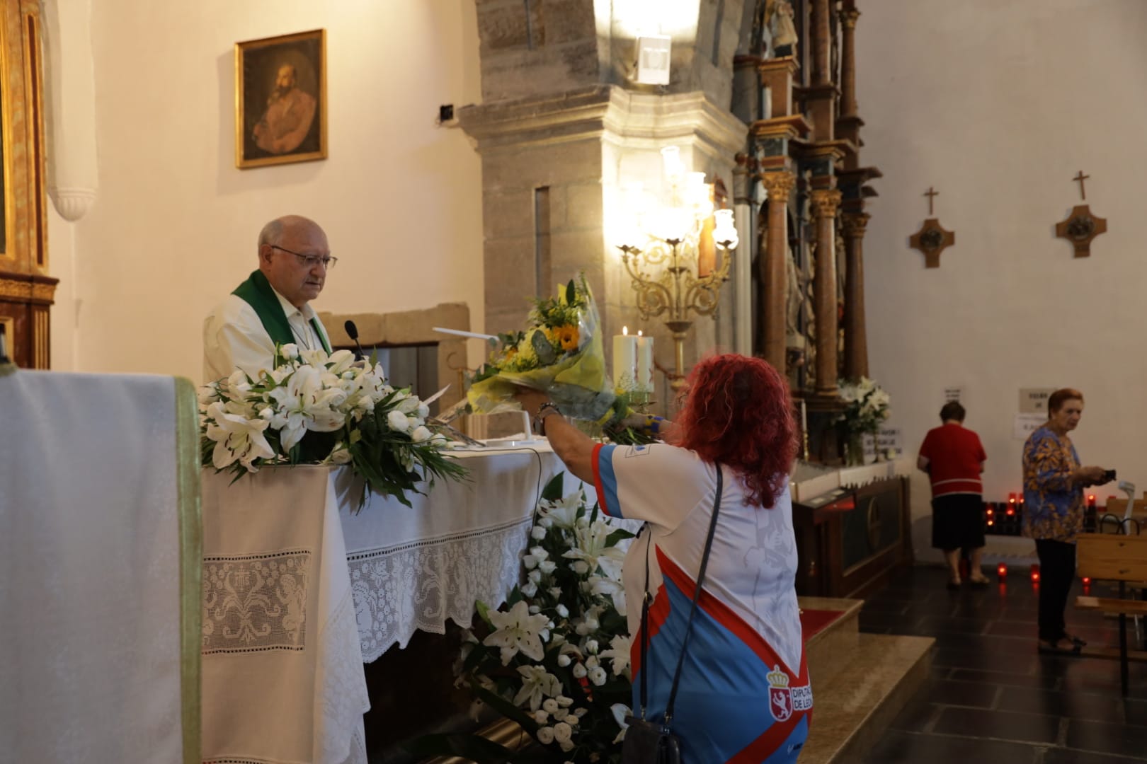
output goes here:
{"type": "Polygon", "coordinates": [[[446,632],[446,620],[470,625],[475,600],[497,607],[518,581],[531,518],[399,546],[346,554],[362,660],[416,630],[446,632]]]}

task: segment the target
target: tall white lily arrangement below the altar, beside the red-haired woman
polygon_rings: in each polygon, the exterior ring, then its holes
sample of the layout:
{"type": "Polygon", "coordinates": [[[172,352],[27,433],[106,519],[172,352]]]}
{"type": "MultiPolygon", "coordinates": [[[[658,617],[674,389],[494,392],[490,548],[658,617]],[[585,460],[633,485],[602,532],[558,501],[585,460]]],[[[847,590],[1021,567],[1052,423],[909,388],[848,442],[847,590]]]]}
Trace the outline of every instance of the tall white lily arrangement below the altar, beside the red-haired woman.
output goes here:
{"type": "Polygon", "coordinates": [[[522,558],[525,583],[497,611],[477,604],[481,623],[466,632],[455,671],[546,754],[478,735],[431,735],[412,753],[482,764],[621,762],[632,698],[622,561],[633,534],[591,509],[584,491],[562,496],[561,473],[541,497],[522,558]]]}

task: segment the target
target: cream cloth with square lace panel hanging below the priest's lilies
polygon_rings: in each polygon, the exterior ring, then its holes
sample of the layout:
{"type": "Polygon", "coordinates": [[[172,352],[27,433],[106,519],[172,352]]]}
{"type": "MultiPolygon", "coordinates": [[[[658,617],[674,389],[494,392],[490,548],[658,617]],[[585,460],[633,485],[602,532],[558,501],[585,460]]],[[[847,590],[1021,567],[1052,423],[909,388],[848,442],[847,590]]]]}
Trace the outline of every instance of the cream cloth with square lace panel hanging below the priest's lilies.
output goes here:
{"type": "Polygon", "coordinates": [[[331,470],[203,472],[203,756],[366,763],[369,709],[331,470]]]}

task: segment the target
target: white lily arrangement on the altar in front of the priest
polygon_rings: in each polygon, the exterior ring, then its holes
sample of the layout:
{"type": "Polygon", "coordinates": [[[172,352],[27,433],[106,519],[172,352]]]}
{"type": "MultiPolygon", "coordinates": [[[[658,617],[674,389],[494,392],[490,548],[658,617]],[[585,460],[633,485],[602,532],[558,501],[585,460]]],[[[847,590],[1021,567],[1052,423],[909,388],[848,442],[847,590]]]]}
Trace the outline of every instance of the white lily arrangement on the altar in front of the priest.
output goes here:
{"type": "Polygon", "coordinates": [[[429,409],[395,389],[382,367],[350,351],[275,349],[275,368],[251,379],[236,371],[200,393],[203,463],[237,480],[268,464],[350,464],[369,488],[411,505],[422,481],[461,479],[442,452],[446,438],[427,425],[429,409]]]}

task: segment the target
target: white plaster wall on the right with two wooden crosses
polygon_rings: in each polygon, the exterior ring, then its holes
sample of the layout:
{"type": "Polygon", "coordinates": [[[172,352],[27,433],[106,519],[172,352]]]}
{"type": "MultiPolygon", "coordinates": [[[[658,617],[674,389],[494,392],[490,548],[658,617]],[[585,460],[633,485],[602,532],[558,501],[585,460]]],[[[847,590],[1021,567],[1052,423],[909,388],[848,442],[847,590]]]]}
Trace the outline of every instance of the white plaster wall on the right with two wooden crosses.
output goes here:
{"type": "MultiPolygon", "coordinates": [[[[961,385],[988,451],[985,498],[1020,490],[1021,387],[1079,388],[1086,464],[1147,488],[1147,2],[864,1],[857,87],[880,198],[865,238],[869,370],[914,455],[961,385]],[[1109,230],[1072,257],[1055,222],[1087,204],[1109,230]],[[907,246],[927,215],[955,231],[938,269],[907,246]]],[[[916,473],[914,515],[928,514],[916,473]]],[[[1115,486],[1098,487],[1100,503],[1115,486]]],[[[923,544],[927,545],[927,536],[923,544]]],[[[920,550],[918,536],[918,551],[920,550]]]]}

